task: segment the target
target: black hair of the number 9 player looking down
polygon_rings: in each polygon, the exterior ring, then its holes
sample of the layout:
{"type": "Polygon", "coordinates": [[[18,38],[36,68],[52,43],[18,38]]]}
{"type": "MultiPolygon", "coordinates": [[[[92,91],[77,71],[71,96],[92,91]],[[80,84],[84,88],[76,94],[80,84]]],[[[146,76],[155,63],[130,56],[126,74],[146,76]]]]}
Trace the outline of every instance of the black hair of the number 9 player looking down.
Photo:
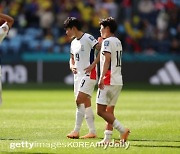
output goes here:
{"type": "Polygon", "coordinates": [[[78,30],[81,30],[82,28],[82,24],[81,22],[75,18],[75,17],[68,17],[65,21],[64,21],[64,28],[72,28],[72,27],[76,27],[78,30]]]}

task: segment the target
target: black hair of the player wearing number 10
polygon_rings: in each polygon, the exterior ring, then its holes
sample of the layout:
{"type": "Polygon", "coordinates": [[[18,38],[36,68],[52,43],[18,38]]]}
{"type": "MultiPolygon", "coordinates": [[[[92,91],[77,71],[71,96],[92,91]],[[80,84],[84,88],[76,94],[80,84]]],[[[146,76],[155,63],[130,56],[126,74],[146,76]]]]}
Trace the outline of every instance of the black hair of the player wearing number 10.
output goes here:
{"type": "Polygon", "coordinates": [[[116,23],[115,19],[112,17],[101,19],[99,24],[103,25],[104,28],[108,26],[111,33],[115,33],[115,31],[117,30],[117,23],[116,23]]]}

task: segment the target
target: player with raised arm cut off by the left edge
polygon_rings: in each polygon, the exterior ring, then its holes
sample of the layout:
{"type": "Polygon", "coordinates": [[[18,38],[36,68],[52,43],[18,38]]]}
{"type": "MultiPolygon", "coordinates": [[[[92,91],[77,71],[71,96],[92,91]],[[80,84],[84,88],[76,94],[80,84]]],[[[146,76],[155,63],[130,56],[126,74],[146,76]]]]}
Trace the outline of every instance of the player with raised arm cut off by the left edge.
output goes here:
{"type": "MultiPolygon", "coordinates": [[[[12,17],[0,13],[0,44],[3,41],[3,39],[7,36],[8,31],[12,27],[13,23],[14,23],[14,19],[12,17]]],[[[1,85],[1,65],[0,65],[0,104],[2,103],[1,93],[2,93],[2,85],[1,85]]]]}

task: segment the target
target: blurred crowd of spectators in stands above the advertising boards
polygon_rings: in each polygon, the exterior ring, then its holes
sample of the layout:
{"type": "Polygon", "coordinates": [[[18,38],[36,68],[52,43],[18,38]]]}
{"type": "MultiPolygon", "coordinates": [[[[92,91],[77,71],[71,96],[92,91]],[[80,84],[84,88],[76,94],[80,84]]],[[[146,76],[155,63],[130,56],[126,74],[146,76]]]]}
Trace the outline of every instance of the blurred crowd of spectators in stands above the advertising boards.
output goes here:
{"type": "Polygon", "coordinates": [[[99,19],[116,18],[118,37],[128,52],[171,53],[172,45],[180,42],[178,0],[1,0],[0,11],[15,19],[10,33],[17,32],[2,42],[3,54],[68,52],[70,42],[63,28],[68,16],[81,19],[83,31],[96,38],[99,19]]]}

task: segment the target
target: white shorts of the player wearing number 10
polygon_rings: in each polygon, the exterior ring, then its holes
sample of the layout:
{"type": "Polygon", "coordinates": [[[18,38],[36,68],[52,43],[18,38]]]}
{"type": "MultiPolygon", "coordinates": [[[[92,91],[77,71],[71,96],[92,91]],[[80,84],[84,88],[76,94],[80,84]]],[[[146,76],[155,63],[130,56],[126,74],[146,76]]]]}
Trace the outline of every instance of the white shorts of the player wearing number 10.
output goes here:
{"type": "Polygon", "coordinates": [[[122,85],[105,85],[104,89],[98,89],[96,103],[101,105],[115,106],[122,85]]]}

